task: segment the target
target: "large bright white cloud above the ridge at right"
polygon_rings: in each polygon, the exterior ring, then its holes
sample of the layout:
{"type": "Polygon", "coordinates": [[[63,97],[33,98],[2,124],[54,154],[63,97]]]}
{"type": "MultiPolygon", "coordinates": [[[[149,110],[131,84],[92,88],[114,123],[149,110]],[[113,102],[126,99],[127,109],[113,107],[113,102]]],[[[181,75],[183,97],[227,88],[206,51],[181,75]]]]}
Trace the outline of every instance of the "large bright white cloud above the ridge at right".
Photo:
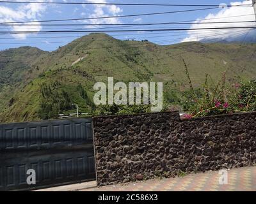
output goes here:
{"type": "MultiPolygon", "coordinates": [[[[218,13],[210,13],[204,19],[198,18],[195,22],[231,22],[231,21],[254,21],[255,16],[253,7],[248,6],[235,6],[239,4],[248,4],[250,1],[243,2],[232,2],[231,5],[234,7],[223,8],[218,13]],[[236,16],[236,17],[234,17],[236,16]],[[239,17],[238,17],[239,16],[239,17]],[[230,18],[232,17],[232,18],[230,18]],[[215,18],[215,19],[212,19],[215,18]]],[[[205,27],[243,27],[243,26],[255,26],[254,22],[250,23],[225,23],[225,24],[193,24],[191,28],[205,28],[205,27]]],[[[222,39],[233,38],[234,36],[248,33],[249,29],[220,29],[220,30],[202,30],[202,31],[188,31],[189,36],[182,40],[184,41],[202,41],[209,39],[222,39]]]]}

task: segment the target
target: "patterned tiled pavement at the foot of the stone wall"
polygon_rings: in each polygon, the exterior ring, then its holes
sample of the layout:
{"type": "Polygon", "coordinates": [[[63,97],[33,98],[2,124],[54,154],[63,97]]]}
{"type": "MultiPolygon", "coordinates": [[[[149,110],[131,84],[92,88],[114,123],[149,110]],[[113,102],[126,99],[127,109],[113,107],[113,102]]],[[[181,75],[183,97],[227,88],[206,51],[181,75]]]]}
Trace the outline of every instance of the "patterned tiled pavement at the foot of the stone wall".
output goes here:
{"type": "Polygon", "coordinates": [[[228,184],[219,184],[218,171],[172,179],[155,179],[132,184],[93,187],[81,191],[256,191],[256,167],[228,170],[228,184]]]}

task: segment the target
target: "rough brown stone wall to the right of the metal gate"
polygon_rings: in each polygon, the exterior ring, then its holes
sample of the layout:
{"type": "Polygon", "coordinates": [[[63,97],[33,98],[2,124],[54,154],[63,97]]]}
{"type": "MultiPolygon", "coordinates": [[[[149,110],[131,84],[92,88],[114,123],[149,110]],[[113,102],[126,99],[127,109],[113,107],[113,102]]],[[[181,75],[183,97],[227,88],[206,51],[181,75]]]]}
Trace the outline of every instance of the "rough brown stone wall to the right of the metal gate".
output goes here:
{"type": "Polygon", "coordinates": [[[95,117],[93,131],[99,186],[256,163],[256,112],[95,117]]]}

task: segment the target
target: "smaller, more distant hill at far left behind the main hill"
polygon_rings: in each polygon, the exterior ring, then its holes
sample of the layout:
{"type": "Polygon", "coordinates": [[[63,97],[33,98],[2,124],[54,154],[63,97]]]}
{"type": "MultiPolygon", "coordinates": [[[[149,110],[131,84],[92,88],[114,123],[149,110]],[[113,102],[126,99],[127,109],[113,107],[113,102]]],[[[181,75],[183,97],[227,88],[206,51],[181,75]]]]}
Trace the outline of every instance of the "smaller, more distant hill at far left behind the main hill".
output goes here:
{"type": "Polygon", "coordinates": [[[45,54],[47,52],[33,47],[11,48],[0,52],[1,112],[6,110],[15,92],[25,87],[31,78],[38,77],[41,72],[38,68],[40,59],[45,54]]]}

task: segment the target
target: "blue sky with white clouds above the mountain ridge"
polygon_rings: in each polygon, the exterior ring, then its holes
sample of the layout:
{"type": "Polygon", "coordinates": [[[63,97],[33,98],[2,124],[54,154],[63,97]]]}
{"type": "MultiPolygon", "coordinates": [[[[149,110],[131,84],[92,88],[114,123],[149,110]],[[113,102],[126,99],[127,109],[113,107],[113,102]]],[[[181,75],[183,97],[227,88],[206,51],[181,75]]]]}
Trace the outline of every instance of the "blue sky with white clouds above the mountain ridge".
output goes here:
{"type": "MultiPolygon", "coordinates": [[[[22,0],[25,1],[25,0],[22,0]]],[[[34,0],[35,1],[35,0],[34,0]]],[[[42,1],[42,0],[41,0],[42,1]]],[[[51,0],[45,0],[51,1],[51,0]]],[[[55,1],[55,0],[52,0],[55,1]]],[[[57,1],[57,0],[56,0],[57,1]]],[[[59,0],[63,1],[63,0],[59,0]]],[[[71,1],[71,0],[65,0],[71,1]]],[[[74,0],[76,2],[83,2],[81,0],[74,0]]],[[[86,2],[86,1],[84,1],[86,2]]],[[[207,1],[207,0],[191,0],[191,1],[145,1],[145,0],[88,0],[88,2],[94,3],[163,3],[163,4],[242,4],[251,3],[251,1],[207,1]]],[[[0,22],[19,22],[19,21],[33,21],[33,20],[52,20],[52,19],[63,19],[63,18],[88,18],[88,17],[106,17],[106,16],[116,16],[116,15],[131,15],[140,13],[156,13],[164,11],[179,11],[179,10],[191,10],[196,9],[196,7],[153,7],[153,6],[93,6],[93,5],[63,5],[63,4],[11,4],[11,3],[0,3],[0,22]]],[[[220,21],[243,21],[243,20],[254,20],[253,8],[225,8],[225,9],[215,9],[215,10],[205,10],[205,11],[191,11],[188,13],[172,13],[164,15],[152,15],[145,17],[129,17],[129,18],[111,18],[111,19],[95,19],[95,20],[79,20],[71,22],[58,22],[62,23],[83,23],[83,24],[129,24],[129,23],[159,23],[159,22],[176,22],[185,20],[196,20],[200,18],[203,22],[206,18],[218,18],[218,20],[208,20],[206,22],[220,22],[220,21]],[[246,15],[244,17],[233,17],[230,16],[246,15]],[[222,18],[223,17],[223,18],[222,18]]],[[[31,26],[2,26],[1,31],[49,31],[49,30],[70,30],[70,29],[92,29],[91,27],[84,26],[47,26],[42,25],[46,23],[35,23],[37,25],[31,26]]],[[[227,26],[228,24],[225,24],[227,26]]],[[[234,25],[234,24],[233,24],[234,25]]],[[[255,24],[237,24],[239,26],[243,25],[255,25],[255,24]]],[[[143,27],[125,27],[116,29],[158,29],[158,28],[177,28],[177,27],[198,27],[202,25],[154,25],[153,26],[143,26],[143,27]]],[[[204,25],[205,27],[212,26],[223,26],[217,24],[204,25]]],[[[102,26],[106,27],[106,26],[102,26]]],[[[99,30],[100,27],[97,27],[99,30]]],[[[244,31],[237,30],[235,33],[232,31],[191,31],[191,32],[163,32],[157,31],[156,33],[109,33],[115,38],[120,40],[134,39],[143,40],[147,39],[159,45],[168,45],[173,43],[179,43],[180,41],[195,41],[202,40],[202,38],[210,38],[216,36],[215,38],[230,38],[230,35],[239,35],[244,31]]],[[[68,42],[83,36],[86,33],[47,33],[47,34],[2,34],[0,35],[0,50],[6,48],[20,47],[20,46],[33,46],[41,48],[42,50],[56,50],[59,46],[66,45],[68,42]]]]}

